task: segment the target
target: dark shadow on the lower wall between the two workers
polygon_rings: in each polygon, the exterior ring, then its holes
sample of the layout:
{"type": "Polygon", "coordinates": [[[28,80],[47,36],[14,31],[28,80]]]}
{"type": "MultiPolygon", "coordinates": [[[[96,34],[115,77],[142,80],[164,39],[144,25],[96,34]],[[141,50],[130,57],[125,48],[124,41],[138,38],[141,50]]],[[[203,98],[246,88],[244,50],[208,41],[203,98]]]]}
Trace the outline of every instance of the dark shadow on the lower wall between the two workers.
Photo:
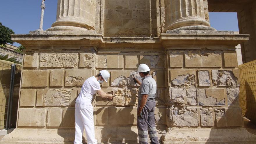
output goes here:
{"type": "MultiPolygon", "coordinates": [[[[104,107],[97,109],[95,112],[98,115],[104,107]]],[[[101,142],[106,143],[137,143],[138,134],[132,130],[132,124],[135,122],[135,115],[126,115],[127,113],[131,113],[131,107],[123,107],[123,109],[118,109],[117,107],[107,107],[102,113],[101,123],[104,127],[101,129],[101,142]],[[109,115],[109,111],[113,118],[109,117],[107,119],[104,117],[105,115],[109,115]],[[129,120],[129,124],[127,125],[127,120],[129,120]],[[106,126],[109,124],[108,126],[106,126]],[[114,125],[127,125],[125,127],[122,126],[114,126],[114,125]]],[[[98,126],[100,127],[100,125],[98,126]]],[[[136,127],[137,129],[137,127],[136,127]]],[[[97,137],[97,136],[96,136],[97,137]]],[[[98,138],[99,139],[99,138],[98,138]]]]}

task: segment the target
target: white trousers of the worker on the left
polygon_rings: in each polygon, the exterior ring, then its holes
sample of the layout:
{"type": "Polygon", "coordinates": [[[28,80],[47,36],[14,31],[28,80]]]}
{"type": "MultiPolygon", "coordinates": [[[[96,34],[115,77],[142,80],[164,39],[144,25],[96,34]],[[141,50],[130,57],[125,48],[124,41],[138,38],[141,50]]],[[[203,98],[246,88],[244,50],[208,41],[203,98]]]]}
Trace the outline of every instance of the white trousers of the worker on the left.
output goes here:
{"type": "Polygon", "coordinates": [[[86,132],[87,144],[97,144],[93,123],[93,106],[76,103],[75,122],[76,132],[74,144],[82,143],[84,128],[86,132]]]}

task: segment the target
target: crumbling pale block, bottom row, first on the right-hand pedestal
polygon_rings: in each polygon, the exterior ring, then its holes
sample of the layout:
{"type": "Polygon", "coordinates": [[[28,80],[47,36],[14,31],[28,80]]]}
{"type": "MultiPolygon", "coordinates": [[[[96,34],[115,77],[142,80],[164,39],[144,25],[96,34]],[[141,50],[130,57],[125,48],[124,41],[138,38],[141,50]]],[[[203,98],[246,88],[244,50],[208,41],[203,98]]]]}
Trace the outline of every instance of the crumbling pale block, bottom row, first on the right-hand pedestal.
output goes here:
{"type": "MultiPolygon", "coordinates": [[[[168,114],[168,113],[167,113],[168,114]]],[[[196,109],[171,109],[169,127],[198,127],[198,112],[196,109]]]]}

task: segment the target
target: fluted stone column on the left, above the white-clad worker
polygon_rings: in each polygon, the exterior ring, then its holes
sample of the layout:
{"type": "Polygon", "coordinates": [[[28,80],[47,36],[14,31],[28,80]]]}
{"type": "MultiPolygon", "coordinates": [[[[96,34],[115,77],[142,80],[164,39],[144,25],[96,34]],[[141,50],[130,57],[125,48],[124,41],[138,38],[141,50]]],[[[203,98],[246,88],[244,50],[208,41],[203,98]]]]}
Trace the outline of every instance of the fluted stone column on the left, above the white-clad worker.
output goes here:
{"type": "Polygon", "coordinates": [[[56,22],[47,31],[95,30],[96,1],[58,0],[56,22]]]}

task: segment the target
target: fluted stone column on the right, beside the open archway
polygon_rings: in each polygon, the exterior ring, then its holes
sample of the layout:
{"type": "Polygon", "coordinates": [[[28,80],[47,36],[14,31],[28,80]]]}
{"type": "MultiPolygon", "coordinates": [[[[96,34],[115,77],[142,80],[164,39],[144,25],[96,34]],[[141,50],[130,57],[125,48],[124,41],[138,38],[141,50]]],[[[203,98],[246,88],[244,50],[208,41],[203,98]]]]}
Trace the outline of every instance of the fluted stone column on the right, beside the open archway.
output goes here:
{"type": "Polygon", "coordinates": [[[165,0],[165,31],[215,30],[205,19],[208,13],[207,0],[165,0]]]}

